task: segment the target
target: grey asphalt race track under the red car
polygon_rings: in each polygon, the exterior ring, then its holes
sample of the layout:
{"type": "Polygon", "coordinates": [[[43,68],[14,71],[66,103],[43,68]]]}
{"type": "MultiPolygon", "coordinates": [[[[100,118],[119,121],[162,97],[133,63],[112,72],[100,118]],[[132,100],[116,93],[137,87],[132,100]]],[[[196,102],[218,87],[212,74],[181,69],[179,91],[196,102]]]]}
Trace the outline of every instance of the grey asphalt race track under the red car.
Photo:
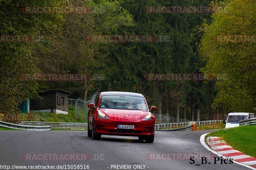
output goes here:
{"type": "Polygon", "coordinates": [[[137,137],[102,136],[100,141],[92,140],[87,137],[87,131],[0,130],[0,166],[66,165],[68,168],[68,165],[89,165],[89,169],[97,170],[114,169],[113,165],[131,165],[131,169],[136,165],[142,165],[143,168],[144,165],[147,170],[247,169],[235,163],[220,164],[218,161],[217,164],[213,164],[213,157],[216,155],[206,150],[199,141],[202,134],[211,131],[155,132],[154,143],[148,144],[138,140],[137,137]],[[78,157],[75,158],[76,160],[69,160],[68,157],[63,160],[60,158],[61,153],[76,154],[78,157]],[[177,157],[177,153],[181,156],[177,157]],[[201,159],[198,160],[196,156],[195,163],[190,164],[192,161],[189,158],[193,153],[201,156],[211,154],[211,159],[207,164],[200,165],[201,159]],[[39,154],[48,155],[48,157],[42,158],[39,154]],[[59,156],[56,157],[58,160],[52,160],[50,154],[58,154],[59,156]],[[87,160],[79,160],[79,154],[86,154],[87,160]]]}

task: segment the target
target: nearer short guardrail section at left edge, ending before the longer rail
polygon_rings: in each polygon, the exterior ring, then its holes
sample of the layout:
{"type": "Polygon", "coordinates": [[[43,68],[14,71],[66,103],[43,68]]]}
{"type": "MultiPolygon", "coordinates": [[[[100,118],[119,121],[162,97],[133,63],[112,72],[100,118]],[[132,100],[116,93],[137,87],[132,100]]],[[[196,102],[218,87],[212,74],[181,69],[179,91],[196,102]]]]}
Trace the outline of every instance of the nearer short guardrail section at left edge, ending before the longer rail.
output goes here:
{"type": "Polygon", "coordinates": [[[24,126],[0,121],[0,126],[20,130],[51,130],[51,126],[24,126]]]}

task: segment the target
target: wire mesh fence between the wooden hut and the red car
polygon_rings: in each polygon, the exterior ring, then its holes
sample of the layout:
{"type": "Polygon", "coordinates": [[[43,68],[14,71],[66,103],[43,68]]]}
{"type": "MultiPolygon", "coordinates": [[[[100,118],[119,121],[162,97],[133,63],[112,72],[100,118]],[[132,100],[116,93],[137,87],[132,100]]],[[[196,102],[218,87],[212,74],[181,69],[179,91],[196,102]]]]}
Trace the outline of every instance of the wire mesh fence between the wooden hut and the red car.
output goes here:
{"type": "Polygon", "coordinates": [[[98,92],[95,92],[91,98],[91,100],[84,101],[81,98],[78,99],[68,99],[68,105],[71,110],[75,110],[76,120],[83,120],[87,122],[87,114],[89,108],[88,104],[94,103],[97,97],[98,92]]]}

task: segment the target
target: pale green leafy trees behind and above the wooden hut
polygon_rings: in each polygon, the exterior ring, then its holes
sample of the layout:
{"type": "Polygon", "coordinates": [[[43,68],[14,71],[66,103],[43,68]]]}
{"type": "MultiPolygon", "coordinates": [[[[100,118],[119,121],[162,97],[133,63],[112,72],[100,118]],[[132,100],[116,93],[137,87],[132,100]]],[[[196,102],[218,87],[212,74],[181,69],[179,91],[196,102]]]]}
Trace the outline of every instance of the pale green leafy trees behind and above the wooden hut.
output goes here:
{"type": "MultiPolygon", "coordinates": [[[[101,0],[74,1],[73,6],[89,6],[89,14],[68,14],[65,16],[63,30],[52,39],[51,45],[43,45],[36,51],[40,56],[39,68],[44,72],[81,73],[108,75],[110,68],[109,49],[113,43],[94,43],[87,41],[92,35],[117,34],[122,26],[132,26],[132,17],[120,6],[120,2],[101,0]]],[[[96,80],[97,81],[97,80],[96,80]]],[[[87,92],[95,92],[99,81],[83,82],[40,82],[40,89],[52,86],[64,88],[74,93],[74,98],[87,98],[87,92]]]]}

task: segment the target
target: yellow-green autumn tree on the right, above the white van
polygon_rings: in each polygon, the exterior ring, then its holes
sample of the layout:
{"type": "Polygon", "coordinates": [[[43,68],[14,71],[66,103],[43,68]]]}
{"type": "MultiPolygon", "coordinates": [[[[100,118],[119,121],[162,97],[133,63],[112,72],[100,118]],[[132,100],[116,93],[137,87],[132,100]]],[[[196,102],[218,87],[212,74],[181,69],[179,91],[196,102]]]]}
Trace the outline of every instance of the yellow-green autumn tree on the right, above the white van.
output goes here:
{"type": "Polygon", "coordinates": [[[204,24],[200,54],[207,62],[204,73],[228,74],[216,83],[214,107],[225,112],[254,112],[256,103],[256,48],[253,42],[218,42],[217,36],[255,35],[256,2],[212,3],[216,12],[212,23],[204,24]]]}

